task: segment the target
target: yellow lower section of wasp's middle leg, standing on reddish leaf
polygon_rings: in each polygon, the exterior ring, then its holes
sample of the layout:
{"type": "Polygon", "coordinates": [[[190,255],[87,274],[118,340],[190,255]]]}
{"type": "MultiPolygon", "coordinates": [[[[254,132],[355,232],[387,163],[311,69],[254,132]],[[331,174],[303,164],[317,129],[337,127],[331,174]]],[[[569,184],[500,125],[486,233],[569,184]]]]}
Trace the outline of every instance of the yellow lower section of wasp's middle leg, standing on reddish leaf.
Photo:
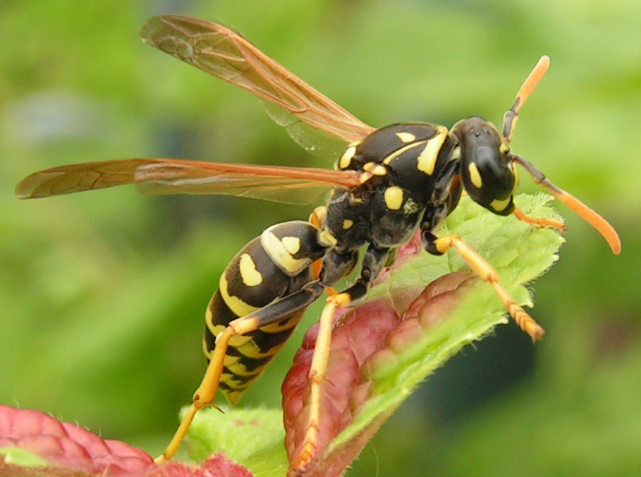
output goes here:
{"type": "Polygon", "coordinates": [[[339,293],[330,296],[321,314],[318,336],[314,346],[314,356],[309,370],[309,416],[307,418],[303,445],[298,456],[291,463],[291,468],[293,469],[304,468],[316,454],[316,442],[318,440],[321,414],[321,391],[327,372],[334,316],[338,308],[347,306],[350,302],[351,297],[349,293],[339,293]]]}

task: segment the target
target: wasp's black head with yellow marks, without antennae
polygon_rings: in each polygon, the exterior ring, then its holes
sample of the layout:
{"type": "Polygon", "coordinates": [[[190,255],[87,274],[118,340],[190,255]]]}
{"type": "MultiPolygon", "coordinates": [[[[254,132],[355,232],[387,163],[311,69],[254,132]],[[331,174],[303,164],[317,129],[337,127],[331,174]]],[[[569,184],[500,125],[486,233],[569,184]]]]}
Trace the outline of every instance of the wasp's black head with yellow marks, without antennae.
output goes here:
{"type": "Polygon", "coordinates": [[[507,141],[480,117],[459,121],[451,133],[460,147],[461,178],[467,193],[495,214],[511,214],[517,181],[507,141]]]}

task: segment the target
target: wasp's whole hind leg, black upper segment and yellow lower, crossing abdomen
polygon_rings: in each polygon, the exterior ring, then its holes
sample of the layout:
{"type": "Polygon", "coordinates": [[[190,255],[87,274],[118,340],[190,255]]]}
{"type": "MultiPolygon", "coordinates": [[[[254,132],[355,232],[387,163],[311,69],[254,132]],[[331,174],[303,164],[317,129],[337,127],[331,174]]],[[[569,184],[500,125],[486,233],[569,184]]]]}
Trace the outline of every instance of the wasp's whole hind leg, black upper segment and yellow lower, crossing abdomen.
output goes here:
{"type": "Polygon", "coordinates": [[[311,282],[301,290],[229,323],[227,328],[216,337],[214,353],[209,360],[205,376],[194,394],[194,401],[187,411],[187,415],[178,426],[178,430],[176,430],[165,452],[156,459],[156,463],[171,460],[187,436],[189,427],[198,411],[214,404],[230,341],[235,336],[242,336],[303,311],[316,301],[324,291],[325,285],[318,281],[311,282]]]}

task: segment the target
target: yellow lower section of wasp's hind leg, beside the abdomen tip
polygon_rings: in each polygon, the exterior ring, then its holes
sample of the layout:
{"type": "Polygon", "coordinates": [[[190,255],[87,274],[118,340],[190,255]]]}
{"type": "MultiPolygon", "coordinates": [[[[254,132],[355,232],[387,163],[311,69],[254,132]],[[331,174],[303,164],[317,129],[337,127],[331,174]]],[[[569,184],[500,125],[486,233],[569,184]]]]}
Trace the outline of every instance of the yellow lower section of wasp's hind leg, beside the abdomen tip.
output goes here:
{"type": "Polygon", "coordinates": [[[216,348],[214,354],[209,361],[205,376],[198,386],[194,394],[194,402],[187,411],[187,415],[180,422],[180,426],[176,430],[174,437],[165,449],[161,456],[156,458],[156,463],[161,464],[168,460],[178,452],[181,444],[187,437],[191,423],[196,416],[196,413],[206,406],[214,404],[216,399],[216,391],[218,391],[218,384],[220,383],[220,375],[223,372],[225,364],[225,355],[229,347],[229,341],[237,335],[242,335],[254,331],[259,327],[259,320],[253,317],[239,318],[232,321],[225,330],[216,337],[216,348]]]}

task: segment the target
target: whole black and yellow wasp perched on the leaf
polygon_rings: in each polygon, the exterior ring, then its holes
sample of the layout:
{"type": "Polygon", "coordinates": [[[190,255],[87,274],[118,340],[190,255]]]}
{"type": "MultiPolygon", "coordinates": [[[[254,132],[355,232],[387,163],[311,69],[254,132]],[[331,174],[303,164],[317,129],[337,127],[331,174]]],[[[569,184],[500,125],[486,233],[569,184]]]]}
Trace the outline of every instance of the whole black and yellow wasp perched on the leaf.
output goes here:
{"type": "Polygon", "coordinates": [[[161,51],[266,102],[274,119],[308,150],[322,152],[332,141],[343,148],[335,170],[127,159],[54,167],[18,184],[20,198],[134,184],[146,194],[229,194],[300,203],[331,190],[327,205],[318,207],[310,220],[269,227],[220,277],[206,312],[207,370],[159,461],[172,458],[196,413],[215,405],[218,389],[236,403],[285,344],[305,309],[328,292],[309,373],[310,416],[301,454],[292,462],[292,468],[304,468],[316,453],[320,384],[335,312],[363,300],[398,247],[417,231],[428,253],[458,251],[494,288],[523,331],[540,340],[543,329],[508,294],[495,269],[457,235],[435,233],[463,192],[494,214],[564,230],[560,221],[531,217],[515,206],[516,166],[589,222],[615,254],[621,251],[616,231],[604,218],[510,150],[519,111],[545,75],[547,56],[521,86],[502,130],[476,116],[450,129],[419,122],[375,129],[222,25],[165,15],[150,19],[141,35],[161,51]],[[359,254],[355,282],[336,292],[337,282],[357,267],[359,254]]]}

